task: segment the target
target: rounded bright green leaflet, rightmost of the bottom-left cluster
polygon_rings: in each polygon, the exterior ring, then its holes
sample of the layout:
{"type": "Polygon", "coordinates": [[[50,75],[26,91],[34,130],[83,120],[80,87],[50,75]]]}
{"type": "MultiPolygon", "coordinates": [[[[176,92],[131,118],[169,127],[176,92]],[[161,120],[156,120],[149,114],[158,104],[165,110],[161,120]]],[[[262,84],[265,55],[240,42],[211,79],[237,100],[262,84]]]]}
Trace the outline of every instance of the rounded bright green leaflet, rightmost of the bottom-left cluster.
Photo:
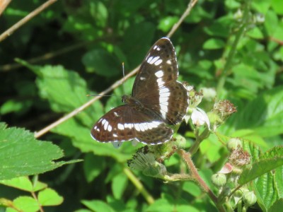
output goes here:
{"type": "Polygon", "coordinates": [[[40,191],[37,198],[42,206],[58,206],[64,200],[56,191],[49,188],[40,191]]]}

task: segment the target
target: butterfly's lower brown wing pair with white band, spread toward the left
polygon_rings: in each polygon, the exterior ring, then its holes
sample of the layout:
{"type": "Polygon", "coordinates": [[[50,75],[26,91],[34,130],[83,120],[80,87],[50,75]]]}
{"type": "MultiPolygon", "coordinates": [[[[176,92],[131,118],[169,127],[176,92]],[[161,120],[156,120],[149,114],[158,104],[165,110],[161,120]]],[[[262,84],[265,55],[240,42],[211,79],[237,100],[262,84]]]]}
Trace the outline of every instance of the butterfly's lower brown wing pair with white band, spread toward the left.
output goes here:
{"type": "Polygon", "coordinates": [[[101,117],[91,129],[91,136],[100,142],[137,139],[146,144],[169,141],[173,130],[154,116],[135,110],[129,105],[115,107],[101,117]]]}

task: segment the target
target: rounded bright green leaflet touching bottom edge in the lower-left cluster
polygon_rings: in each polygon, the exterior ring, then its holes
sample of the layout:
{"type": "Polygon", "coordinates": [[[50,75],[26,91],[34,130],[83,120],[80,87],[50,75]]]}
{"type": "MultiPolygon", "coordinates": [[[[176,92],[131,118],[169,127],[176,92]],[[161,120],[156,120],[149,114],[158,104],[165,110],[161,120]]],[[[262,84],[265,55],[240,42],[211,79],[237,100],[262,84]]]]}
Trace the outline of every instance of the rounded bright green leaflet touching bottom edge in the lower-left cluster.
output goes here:
{"type": "MultiPolygon", "coordinates": [[[[13,206],[18,209],[18,211],[25,212],[36,212],[40,209],[37,201],[30,196],[20,196],[13,200],[13,206]]],[[[7,208],[7,212],[15,212],[13,208],[7,208]]]]}

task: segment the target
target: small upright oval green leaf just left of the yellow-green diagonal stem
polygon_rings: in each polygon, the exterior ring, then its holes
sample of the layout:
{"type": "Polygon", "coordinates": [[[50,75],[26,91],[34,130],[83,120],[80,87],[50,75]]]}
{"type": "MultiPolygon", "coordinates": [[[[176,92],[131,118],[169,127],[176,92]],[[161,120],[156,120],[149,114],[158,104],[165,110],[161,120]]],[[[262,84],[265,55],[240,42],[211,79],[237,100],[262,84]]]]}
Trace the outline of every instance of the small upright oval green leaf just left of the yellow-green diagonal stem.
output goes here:
{"type": "Polygon", "coordinates": [[[116,199],[121,199],[122,194],[125,192],[125,189],[127,188],[127,176],[124,174],[124,172],[120,173],[119,175],[116,175],[112,179],[112,192],[116,199]]]}

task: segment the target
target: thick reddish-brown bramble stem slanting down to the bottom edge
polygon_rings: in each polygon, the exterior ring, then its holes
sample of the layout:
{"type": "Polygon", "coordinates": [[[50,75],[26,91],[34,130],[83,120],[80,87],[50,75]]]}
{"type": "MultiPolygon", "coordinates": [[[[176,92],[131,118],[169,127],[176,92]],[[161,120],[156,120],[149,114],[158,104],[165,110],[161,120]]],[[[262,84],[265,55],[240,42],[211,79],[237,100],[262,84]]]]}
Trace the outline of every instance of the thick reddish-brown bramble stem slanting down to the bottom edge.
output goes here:
{"type": "Polygon", "coordinates": [[[209,195],[212,201],[214,201],[214,204],[216,205],[218,210],[224,212],[224,207],[221,204],[218,204],[217,196],[214,195],[212,190],[209,189],[208,185],[204,182],[202,177],[200,177],[199,173],[197,172],[197,168],[195,167],[194,163],[192,162],[192,159],[190,158],[190,153],[187,153],[183,149],[180,149],[177,152],[183,158],[183,160],[185,160],[185,163],[187,163],[187,167],[191,172],[192,178],[195,179],[195,182],[200,184],[201,189],[209,195]]]}

